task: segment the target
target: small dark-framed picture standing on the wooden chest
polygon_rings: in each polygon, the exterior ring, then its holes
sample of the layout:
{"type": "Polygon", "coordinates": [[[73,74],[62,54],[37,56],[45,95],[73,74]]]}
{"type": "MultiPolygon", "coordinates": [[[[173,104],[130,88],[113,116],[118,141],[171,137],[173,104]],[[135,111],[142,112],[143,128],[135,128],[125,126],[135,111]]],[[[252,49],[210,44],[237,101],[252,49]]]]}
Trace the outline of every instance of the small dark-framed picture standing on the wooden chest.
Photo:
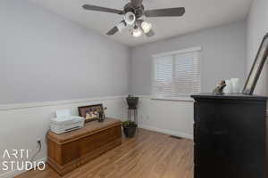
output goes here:
{"type": "Polygon", "coordinates": [[[86,123],[97,120],[99,118],[98,113],[100,111],[104,111],[103,104],[79,107],[80,117],[84,117],[86,123]]]}

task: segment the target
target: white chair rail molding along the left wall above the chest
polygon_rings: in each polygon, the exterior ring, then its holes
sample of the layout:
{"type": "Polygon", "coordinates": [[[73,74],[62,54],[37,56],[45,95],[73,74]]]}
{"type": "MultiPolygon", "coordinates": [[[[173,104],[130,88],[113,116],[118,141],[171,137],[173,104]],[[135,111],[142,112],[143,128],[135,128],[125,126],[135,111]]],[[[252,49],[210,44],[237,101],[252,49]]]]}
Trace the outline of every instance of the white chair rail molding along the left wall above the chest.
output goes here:
{"type": "Polygon", "coordinates": [[[116,99],[122,99],[125,97],[126,95],[119,95],[119,96],[92,97],[92,98],[87,98],[87,99],[76,99],[76,100],[66,100],[66,101],[40,101],[40,102],[18,103],[18,104],[0,104],[0,111],[56,106],[56,105],[63,105],[63,104],[88,102],[88,101],[116,100],[116,99]]]}

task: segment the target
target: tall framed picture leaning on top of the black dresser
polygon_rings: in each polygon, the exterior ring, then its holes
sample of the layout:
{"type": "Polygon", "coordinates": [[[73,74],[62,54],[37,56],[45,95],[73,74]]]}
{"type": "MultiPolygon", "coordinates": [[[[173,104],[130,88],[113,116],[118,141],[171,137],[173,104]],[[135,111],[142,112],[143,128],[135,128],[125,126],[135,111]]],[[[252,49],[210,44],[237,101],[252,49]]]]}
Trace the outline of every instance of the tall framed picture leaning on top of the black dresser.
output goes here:
{"type": "Polygon", "coordinates": [[[261,75],[264,68],[264,63],[268,57],[268,33],[264,36],[263,42],[259,48],[259,51],[255,57],[255,61],[250,70],[249,76],[247,77],[247,82],[243,89],[243,94],[253,94],[255,85],[261,75]]]}

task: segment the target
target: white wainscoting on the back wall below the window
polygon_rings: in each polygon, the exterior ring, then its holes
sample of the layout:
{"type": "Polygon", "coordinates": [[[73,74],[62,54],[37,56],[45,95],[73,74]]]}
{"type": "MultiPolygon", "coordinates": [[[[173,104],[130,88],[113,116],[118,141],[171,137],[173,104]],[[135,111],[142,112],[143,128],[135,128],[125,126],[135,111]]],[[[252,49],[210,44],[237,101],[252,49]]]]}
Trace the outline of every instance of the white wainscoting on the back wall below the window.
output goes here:
{"type": "Polygon", "coordinates": [[[183,138],[193,138],[193,100],[168,101],[151,99],[150,96],[139,97],[139,127],[183,138]]]}

